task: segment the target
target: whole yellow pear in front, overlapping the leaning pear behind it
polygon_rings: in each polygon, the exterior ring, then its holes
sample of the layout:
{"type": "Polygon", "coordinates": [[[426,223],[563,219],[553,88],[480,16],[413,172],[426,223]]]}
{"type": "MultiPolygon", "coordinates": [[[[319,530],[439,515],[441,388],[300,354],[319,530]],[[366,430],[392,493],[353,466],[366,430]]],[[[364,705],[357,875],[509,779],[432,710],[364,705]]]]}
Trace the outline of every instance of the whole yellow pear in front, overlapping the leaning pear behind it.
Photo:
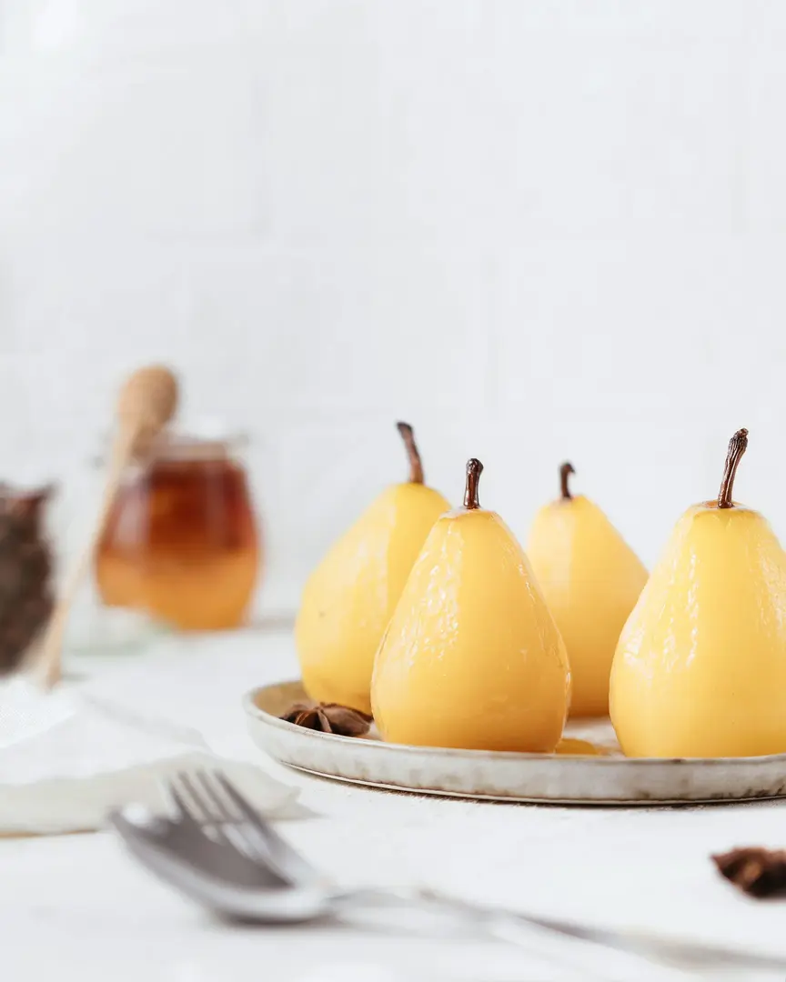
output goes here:
{"type": "Polygon", "coordinates": [[[570,700],[565,645],[513,533],[464,508],[423,544],[374,663],[371,705],[396,743],[550,753],[570,700]]]}

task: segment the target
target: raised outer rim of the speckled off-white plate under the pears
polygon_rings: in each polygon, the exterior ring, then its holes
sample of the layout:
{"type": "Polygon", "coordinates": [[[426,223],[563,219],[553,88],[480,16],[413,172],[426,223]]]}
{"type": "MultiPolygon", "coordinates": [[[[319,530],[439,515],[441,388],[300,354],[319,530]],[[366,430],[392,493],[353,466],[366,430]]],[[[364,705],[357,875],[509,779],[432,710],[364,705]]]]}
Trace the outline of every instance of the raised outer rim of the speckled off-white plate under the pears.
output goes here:
{"type": "MultiPolygon", "coordinates": [[[[608,805],[675,805],[675,804],[714,804],[743,801],[761,801],[786,797],[786,753],[768,754],[760,757],[637,757],[626,758],[612,755],[587,756],[580,754],[518,753],[495,750],[461,750],[452,747],[411,746],[402,743],[387,743],[377,739],[337,736],[307,730],[274,716],[260,708],[260,696],[284,686],[299,684],[299,680],[287,680],[260,685],[243,697],[243,707],[247,715],[254,742],[280,763],[305,773],[330,778],[350,784],[362,785],[388,791],[410,791],[415,794],[434,794],[445,797],[476,798],[480,800],[553,803],[553,804],[608,804],[608,805]],[[260,728],[263,728],[260,729],[260,728]],[[264,734],[264,736],[262,736],[264,734]],[[276,735],[275,738],[273,735],[276,735]],[[351,753],[345,751],[352,748],[351,753]],[[337,756],[337,753],[340,753],[337,756]],[[357,772],[359,758],[371,761],[370,773],[360,776],[357,772]],[[432,777],[423,785],[408,779],[406,769],[425,765],[432,777]],[[480,768],[521,768],[521,779],[527,781],[529,772],[539,768],[548,772],[546,777],[548,791],[527,793],[523,789],[500,788],[488,791],[481,787],[448,787],[448,782],[440,778],[440,768],[463,767],[467,770],[480,768]],[[393,768],[392,773],[390,768],[393,768]],[[598,787],[590,794],[560,792],[563,782],[571,780],[571,772],[580,771],[586,778],[597,778],[605,785],[603,776],[614,776],[623,782],[623,793],[619,789],[598,787]],[[689,793],[669,793],[670,776],[679,772],[689,782],[695,776],[697,787],[689,793]],[[775,772],[773,774],[773,772],[775,772]],[[630,776],[631,784],[626,780],[630,776]],[[653,782],[647,776],[658,779],[653,782]],[[701,779],[701,780],[699,780],[701,779]],[[708,779],[708,780],[707,780],[708,779]],[[735,790],[735,779],[741,780],[748,789],[735,790]],[[636,791],[635,786],[646,785],[646,793],[636,791]],[[434,786],[437,787],[434,787],[434,786]],[[711,790],[702,791],[701,786],[712,785],[711,790]]],[[[364,765],[365,766],[365,765],[364,765]]],[[[369,768],[365,766],[365,770],[369,768]]],[[[472,782],[471,782],[472,784],[472,782]]],[[[520,782],[516,781],[519,785],[520,782]]],[[[580,784],[584,784],[580,782],[580,784]]]]}

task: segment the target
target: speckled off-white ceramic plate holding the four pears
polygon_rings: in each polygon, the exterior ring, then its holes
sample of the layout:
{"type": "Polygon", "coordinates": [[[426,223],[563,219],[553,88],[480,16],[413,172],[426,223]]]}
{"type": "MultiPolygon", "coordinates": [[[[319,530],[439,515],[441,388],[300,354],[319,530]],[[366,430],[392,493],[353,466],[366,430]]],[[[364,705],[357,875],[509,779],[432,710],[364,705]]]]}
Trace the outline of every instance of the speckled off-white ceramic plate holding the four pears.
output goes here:
{"type": "Polygon", "coordinates": [[[310,703],[301,682],[253,689],[244,699],[254,742],[289,767],[371,788],[554,804],[652,805],[786,796],[786,754],[712,759],[628,759],[608,720],[569,724],[602,756],[448,750],[334,736],[278,717],[310,703]]]}

